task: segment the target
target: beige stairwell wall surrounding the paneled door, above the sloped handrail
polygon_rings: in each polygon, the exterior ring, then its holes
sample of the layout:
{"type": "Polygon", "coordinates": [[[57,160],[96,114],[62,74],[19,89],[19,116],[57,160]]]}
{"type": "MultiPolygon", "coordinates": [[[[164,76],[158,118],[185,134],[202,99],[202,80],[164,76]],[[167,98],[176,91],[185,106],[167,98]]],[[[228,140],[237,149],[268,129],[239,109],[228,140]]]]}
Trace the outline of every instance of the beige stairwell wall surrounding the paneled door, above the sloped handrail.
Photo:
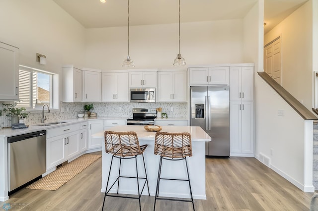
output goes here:
{"type": "Polygon", "coordinates": [[[264,45],[280,35],[282,35],[282,86],[311,110],[313,39],[317,39],[313,38],[313,0],[306,2],[269,31],[264,36],[264,45]]]}

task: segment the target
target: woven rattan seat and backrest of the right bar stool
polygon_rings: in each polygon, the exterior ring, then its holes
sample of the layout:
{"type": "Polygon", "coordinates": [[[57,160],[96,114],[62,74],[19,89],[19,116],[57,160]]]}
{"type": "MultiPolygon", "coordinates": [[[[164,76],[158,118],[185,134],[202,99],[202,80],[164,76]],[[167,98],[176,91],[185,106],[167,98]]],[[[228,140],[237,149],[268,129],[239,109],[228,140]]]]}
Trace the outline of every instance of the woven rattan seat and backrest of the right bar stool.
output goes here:
{"type": "Polygon", "coordinates": [[[155,136],[155,155],[167,158],[192,156],[190,133],[157,132],[155,136]]]}

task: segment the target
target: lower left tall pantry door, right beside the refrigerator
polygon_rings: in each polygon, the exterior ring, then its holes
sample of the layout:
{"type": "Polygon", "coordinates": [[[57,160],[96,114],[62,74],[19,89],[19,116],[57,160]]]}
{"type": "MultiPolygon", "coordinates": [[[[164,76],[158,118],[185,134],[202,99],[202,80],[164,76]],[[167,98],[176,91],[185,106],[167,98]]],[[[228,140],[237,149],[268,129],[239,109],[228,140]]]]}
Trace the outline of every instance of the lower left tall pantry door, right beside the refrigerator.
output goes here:
{"type": "Polygon", "coordinates": [[[240,101],[230,102],[230,152],[241,153],[241,104],[240,101]]]}

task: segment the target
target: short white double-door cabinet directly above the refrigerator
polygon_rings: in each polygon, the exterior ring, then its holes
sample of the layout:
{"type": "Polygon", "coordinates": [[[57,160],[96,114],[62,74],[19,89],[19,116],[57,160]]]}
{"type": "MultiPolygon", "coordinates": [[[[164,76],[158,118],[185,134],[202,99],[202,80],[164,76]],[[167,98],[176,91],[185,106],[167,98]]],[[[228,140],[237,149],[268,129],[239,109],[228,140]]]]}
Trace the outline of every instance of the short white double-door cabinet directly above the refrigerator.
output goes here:
{"type": "Polygon", "coordinates": [[[229,85],[230,67],[190,67],[190,85],[229,85]]]}

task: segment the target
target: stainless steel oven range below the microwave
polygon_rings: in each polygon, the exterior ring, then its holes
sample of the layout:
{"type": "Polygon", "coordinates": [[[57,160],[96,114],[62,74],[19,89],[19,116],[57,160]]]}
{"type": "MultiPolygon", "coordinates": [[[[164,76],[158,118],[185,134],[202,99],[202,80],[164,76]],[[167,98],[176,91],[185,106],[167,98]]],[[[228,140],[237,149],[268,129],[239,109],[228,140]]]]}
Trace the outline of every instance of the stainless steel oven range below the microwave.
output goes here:
{"type": "Polygon", "coordinates": [[[133,108],[133,117],[127,119],[127,125],[155,125],[156,108],[133,108]]]}

